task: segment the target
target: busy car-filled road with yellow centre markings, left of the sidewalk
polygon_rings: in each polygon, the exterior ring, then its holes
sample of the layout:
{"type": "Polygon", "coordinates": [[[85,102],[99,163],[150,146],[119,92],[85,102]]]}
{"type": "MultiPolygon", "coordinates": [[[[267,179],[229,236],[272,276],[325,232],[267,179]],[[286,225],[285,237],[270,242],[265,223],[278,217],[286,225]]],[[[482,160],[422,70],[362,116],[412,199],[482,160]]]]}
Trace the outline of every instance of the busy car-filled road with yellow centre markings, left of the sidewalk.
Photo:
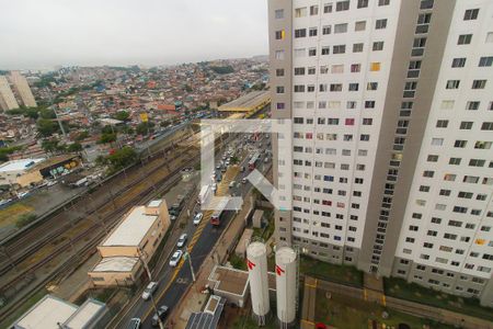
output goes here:
{"type": "MultiPolygon", "coordinates": [[[[218,169],[214,172],[216,191],[227,191],[227,194],[236,196],[245,196],[252,189],[246,182],[245,177],[253,168],[265,172],[270,168],[272,155],[267,148],[270,141],[267,137],[261,136],[259,140],[253,140],[253,136],[236,136],[229,143],[222,152],[216,155],[216,164],[218,169]],[[252,156],[255,159],[252,163],[252,156]],[[233,164],[233,160],[238,161],[233,164]],[[234,172],[236,177],[228,177],[228,170],[238,166],[234,172]],[[226,169],[226,170],[225,170],[226,169]]],[[[213,178],[211,178],[213,180],[213,178]]],[[[204,195],[202,195],[204,196],[204,195]]],[[[164,250],[170,256],[165,260],[164,266],[158,273],[153,274],[152,282],[156,288],[149,290],[149,286],[142,292],[150,292],[148,298],[139,298],[140,294],[131,300],[126,308],[125,314],[118,318],[115,328],[134,328],[137,319],[141,328],[151,328],[159,326],[159,319],[165,322],[167,316],[176,306],[182,295],[193,282],[192,268],[198,271],[204,260],[209,256],[214,245],[219,239],[223,229],[234,215],[234,212],[222,212],[220,220],[214,222],[214,215],[210,219],[205,216],[206,212],[200,211],[200,195],[197,198],[187,201],[188,213],[186,226],[182,229],[181,236],[174,242],[174,250],[164,250]],[[188,215],[190,214],[190,215],[188,215]],[[158,315],[156,313],[158,309],[158,315]],[[163,311],[165,309],[165,311],[163,311]]],[[[186,208],[186,205],[183,207],[186,208]]],[[[147,295],[146,295],[147,296],[147,295]]]]}

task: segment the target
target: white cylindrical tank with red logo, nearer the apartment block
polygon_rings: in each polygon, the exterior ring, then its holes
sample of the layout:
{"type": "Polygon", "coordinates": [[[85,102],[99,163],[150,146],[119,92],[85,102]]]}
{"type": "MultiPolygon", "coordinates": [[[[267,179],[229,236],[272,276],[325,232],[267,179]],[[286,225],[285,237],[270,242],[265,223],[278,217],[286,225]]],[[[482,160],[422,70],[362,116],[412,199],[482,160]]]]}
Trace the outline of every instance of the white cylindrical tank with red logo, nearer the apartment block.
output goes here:
{"type": "Polygon", "coordinates": [[[282,324],[291,324],[296,318],[296,252],[289,247],[276,250],[277,318],[282,324]]]}

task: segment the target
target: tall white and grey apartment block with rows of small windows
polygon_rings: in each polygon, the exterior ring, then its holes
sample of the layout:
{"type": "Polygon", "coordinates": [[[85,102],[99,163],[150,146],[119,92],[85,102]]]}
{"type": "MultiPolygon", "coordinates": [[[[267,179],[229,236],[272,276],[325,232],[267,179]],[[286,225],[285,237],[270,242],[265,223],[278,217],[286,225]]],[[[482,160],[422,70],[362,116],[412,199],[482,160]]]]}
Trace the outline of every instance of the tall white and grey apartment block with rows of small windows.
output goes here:
{"type": "Polygon", "coordinates": [[[270,0],[268,20],[294,132],[276,239],[493,306],[493,2],[270,0]]]}

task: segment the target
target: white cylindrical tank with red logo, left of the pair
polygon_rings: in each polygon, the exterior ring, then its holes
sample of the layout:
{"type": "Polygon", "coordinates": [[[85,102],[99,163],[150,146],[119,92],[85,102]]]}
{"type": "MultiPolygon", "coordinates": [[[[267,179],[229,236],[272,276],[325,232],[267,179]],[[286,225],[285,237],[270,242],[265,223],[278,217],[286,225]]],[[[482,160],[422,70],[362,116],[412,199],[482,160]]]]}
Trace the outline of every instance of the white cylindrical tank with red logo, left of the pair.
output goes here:
{"type": "Polygon", "coordinates": [[[246,266],[249,268],[250,294],[253,313],[265,317],[271,310],[268,302],[267,248],[262,242],[252,242],[246,247],[246,266]]]}

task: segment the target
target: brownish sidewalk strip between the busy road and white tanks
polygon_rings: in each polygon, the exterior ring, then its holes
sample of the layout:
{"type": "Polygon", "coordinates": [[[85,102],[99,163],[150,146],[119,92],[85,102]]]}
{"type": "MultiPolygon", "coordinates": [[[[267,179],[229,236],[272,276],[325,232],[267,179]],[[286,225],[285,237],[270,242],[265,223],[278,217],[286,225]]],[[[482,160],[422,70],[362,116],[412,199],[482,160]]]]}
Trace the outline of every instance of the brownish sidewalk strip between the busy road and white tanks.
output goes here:
{"type": "Polygon", "coordinates": [[[186,293],[182,296],[177,307],[172,311],[168,322],[170,328],[184,329],[192,313],[200,311],[207,302],[208,294],[203,294],[208,283],[210,272],[217,262],[222,263],[229,252],[234,248],[236,241],[244,228],[244,217],[251,207],[251,193],[246,194],[241,211],[231,219],[228,227],[222,231],[221,237],[214,246],[209,257],[204,261],[197,273],[197,281],[193,283],[186,293]]]}

